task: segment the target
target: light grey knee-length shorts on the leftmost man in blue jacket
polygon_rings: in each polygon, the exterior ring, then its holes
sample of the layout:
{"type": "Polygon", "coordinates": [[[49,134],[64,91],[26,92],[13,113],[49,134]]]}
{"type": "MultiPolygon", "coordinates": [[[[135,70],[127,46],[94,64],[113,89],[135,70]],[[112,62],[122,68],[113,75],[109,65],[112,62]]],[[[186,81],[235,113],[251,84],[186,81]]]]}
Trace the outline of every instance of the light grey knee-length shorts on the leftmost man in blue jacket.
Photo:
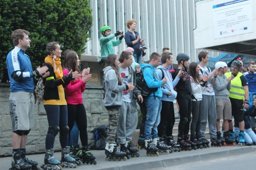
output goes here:
{"type": "Polygon", "coordinates": [[[35,97],[33,92],[11,92],[9,97],[13,131],[35,127],[35,97]]]}

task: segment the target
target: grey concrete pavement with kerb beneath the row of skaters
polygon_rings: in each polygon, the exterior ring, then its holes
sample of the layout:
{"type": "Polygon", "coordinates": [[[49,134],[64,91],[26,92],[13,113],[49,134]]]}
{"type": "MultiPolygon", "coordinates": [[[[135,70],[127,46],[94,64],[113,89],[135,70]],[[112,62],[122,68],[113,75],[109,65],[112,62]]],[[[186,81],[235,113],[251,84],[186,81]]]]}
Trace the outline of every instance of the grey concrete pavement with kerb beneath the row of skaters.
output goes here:
{"type": "MultiPolygon", "coordinates": [[[[139,157],[133,157],[126,161],[106,161],[103,150],[91,150],[96,157],[96,165],[82,164],[76,170],[148,170],[165,166],[178,165],[183,163],[197,162],[208,159],[224,158],[239,154],[254,153],[256,156],[256,146],[222,146],[197,149],[192,151],[173,152],[158,157],[146,156],[145,150],[140,150],[139,157]]],[[[56,152],[54,156],[60,160],[61,153],[56,152]]],[[[41,166],[44,163],[44,154],[27,155],[29,159],[37,161],[41,166]]],[[[234,162],[235,163],[235,162],[234,162]]],[[[0,170],[8,170],[11,167],[11,157],[0,158],[0,170]]],[[[69,169],[69,168],[63,168],[69,169]]]]}

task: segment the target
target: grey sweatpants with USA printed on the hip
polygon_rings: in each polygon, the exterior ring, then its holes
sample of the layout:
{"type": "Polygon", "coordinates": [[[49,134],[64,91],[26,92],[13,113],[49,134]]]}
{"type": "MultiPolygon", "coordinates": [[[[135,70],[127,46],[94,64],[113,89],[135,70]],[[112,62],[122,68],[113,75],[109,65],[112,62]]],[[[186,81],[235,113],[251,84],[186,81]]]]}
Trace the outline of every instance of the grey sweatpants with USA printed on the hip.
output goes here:
{"type": "Polygon", "coordinates": [[[120,107],[120,115],[117,125],[117,142],[124,144],[125,141],[132,141],[132,134],[138,123],[138,112],[133,103],[123,101],[120,107]]]}

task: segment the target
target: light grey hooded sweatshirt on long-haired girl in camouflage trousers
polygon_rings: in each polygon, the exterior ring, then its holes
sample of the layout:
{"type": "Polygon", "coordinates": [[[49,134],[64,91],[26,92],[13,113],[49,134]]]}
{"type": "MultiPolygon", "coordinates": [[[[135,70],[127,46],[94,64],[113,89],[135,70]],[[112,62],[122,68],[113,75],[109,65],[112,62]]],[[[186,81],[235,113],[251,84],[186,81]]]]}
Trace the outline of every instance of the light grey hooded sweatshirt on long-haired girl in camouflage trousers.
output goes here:
{"type": "Polygon", "coordinates": [[[117,74],[111,66],[103,69],[105,79],[103,89],[105,90],[104,106],[106,109],[117,109],[123,103],[123,90],[128,89],[128,86],[118,85],[117,74]]]}

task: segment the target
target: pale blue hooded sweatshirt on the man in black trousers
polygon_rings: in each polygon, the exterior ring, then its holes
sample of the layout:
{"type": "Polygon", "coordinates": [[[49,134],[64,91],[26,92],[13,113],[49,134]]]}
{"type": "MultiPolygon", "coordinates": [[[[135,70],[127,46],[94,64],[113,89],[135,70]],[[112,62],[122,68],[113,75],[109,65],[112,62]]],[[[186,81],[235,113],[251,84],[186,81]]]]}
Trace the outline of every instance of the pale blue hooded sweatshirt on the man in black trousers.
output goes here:
{"type": "Polygon", "coordinates": [[[172,80],[172,74],[169,72],[168,69],[165,69],[163,66],[157,67],[157,75],[159,79],[162,79],[162,76],[167,78],[167,83],[164,84],[164,86],[161,88],[163,93],[163,97],[161,98],[161,100],[174,101],[175,98],[177,97],[177,92],[173,89],[173,87],[177,85],[180,79],[178,77],[175,77],[175,79],[172,80]],[[161,71],[161,69],[163,70],[163,72],[161,71]],[[164,73],[164,76],[163,76],[163,73],[164,73]],[[169,91],[172,92],[170,96],[168,95],[169,91]]]}

